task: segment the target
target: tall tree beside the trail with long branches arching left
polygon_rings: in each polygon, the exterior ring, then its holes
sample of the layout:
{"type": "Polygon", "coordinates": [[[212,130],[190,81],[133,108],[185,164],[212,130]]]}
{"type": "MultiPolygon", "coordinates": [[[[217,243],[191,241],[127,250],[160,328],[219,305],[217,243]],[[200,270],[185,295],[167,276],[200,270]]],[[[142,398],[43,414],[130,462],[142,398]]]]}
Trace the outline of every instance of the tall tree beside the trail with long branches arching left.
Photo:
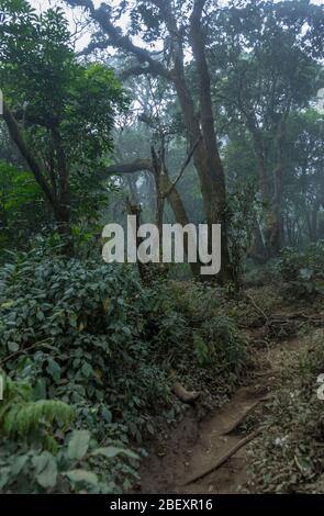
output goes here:
{"type": "Polygon", "coordinates": [[[115,47],[134,63],[122,74],[130,76],[152,75],[167,80],[177,93],[190,147],[194,148],[193,161],[200,179],[205,221],[222,224],[222,269],[220,281],[232,279],[228,238],[225,177],[212,110],[211,79],[206,59],[208,16],[206,0],[170,1],[146,0],[101,3],[96,8],[91,0],[67,0],[72,7],[83,7],[99,32],[86,53],[115,47]],[[125,34],[118,20],[130,18],[130,30],[125,34]],[[147,45],[135,44],[132,36],[141,36],[146,43],[163,52],[149,51],[147,45]],[[191,53],[198,78],[199,101],[195,102],[188,81],[186,53],[191,53]]]}

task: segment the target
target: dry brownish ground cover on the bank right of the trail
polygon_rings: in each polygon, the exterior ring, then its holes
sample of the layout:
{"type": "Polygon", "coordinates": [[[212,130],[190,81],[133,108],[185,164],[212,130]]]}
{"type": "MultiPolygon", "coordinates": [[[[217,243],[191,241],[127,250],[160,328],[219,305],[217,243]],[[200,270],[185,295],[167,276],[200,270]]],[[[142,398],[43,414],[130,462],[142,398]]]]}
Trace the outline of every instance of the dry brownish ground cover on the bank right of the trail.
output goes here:
{"type": "Polygon", "coordinates": [[[323,371],[321,329],[298,360],[287,361],[282,385],[262,422],[262,436],[250,446],[253,493],[323,493],[324,417],[317,396],[323,371]]]}

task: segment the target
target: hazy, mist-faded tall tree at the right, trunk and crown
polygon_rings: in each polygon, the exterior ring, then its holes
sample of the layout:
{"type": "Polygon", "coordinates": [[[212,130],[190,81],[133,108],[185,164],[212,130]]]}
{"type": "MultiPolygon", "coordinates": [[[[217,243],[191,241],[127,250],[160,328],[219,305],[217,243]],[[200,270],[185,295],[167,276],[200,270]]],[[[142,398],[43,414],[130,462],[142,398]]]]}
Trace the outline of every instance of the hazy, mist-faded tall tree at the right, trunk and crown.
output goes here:
{"type": "Polygon", "coordinates": [[[324,9],[309,1],[232,2],[213,14],[214,94],[234,126],[248,131],[264,205],[265,258],[284,244],[282,188],[287,123],[317,91],[324,9]]]}

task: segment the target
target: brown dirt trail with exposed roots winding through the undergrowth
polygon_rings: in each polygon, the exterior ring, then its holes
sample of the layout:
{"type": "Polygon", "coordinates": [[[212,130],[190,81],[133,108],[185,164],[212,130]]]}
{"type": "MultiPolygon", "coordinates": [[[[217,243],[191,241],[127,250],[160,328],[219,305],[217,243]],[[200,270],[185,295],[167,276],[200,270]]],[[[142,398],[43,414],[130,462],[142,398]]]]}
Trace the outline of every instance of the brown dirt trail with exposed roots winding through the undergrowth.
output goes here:
{"type": "MultiPolygon", "coordinates": [[[[228,451],[253,436],[257,428],[242,434],[239,426],[259,407],[266,408],[278,385],[287,359],[300,354],[304,340],[293,337],[258,351],[258,368],[248,385],[239,388],[232,400],[216,408],[206,420],[197,422],[190,408],[167,439],[154,444],[141,469],[141,491],[175,494],[234,494],[248,480],[246,445],[225,459],[228,451]],[[220,461],[224,462],[213,469],[220,461]],[[212,469],[212,471],[211,471],[212,469]],[[206,474],[206,471],[210,473],[206,474]]],[[[261,416],[262,411],[260,411],[261,416]]]]}

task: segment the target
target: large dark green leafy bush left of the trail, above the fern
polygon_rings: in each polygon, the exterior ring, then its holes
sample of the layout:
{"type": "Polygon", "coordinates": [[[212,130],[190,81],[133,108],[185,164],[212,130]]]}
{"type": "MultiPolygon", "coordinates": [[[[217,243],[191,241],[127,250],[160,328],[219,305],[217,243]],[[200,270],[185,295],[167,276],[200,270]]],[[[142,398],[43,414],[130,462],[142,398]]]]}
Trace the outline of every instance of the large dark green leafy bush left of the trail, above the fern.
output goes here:
{"type": "Polygon", "coordinates": [[[0,282],[2,356],[18,352],[8,368],[36,395],[81,412],[91,400],[93,425],[104,405],[124,406],[124,419],[139,411],[135,385],[139,397],[154,397],[157,371],[146,366],[142,291],[131,270],[25,255],[2,269],[0,282]]]}

